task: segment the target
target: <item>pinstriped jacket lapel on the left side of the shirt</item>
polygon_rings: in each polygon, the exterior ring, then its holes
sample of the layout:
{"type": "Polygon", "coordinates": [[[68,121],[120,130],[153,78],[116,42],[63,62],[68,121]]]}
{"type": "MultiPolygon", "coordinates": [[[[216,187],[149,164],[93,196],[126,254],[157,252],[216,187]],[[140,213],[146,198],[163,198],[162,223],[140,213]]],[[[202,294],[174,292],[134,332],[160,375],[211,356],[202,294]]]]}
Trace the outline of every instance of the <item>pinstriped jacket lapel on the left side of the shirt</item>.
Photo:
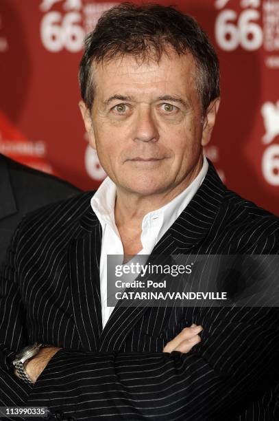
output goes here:
{"type": "Polygon", "coordinates": [[[102,330],[99,288],[101,225],[90,209],[80,223],[82,230],[72,239],[68,250],[70,292],[82,348],[96,352],[102,330]]]}

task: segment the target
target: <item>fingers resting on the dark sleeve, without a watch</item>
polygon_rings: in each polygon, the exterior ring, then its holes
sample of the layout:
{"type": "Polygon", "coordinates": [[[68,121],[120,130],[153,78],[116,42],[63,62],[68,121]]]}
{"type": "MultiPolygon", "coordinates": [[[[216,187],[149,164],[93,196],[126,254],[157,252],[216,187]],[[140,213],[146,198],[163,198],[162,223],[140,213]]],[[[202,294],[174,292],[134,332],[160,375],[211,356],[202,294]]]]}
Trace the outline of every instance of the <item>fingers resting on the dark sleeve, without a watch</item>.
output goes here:
{"type": "Polygon", "coordinates": [[[199,332],[202,332],[202,326],[197,326],[195,323],[191,327],[185,327],[180,334],[175,336],[172,341],[169,341],[165,345],[162,352],[173,352],[179,351],[183,354],[191,351],[194,345],[197,345],[202,341],[201,337],[198,335],[199,332]]]}

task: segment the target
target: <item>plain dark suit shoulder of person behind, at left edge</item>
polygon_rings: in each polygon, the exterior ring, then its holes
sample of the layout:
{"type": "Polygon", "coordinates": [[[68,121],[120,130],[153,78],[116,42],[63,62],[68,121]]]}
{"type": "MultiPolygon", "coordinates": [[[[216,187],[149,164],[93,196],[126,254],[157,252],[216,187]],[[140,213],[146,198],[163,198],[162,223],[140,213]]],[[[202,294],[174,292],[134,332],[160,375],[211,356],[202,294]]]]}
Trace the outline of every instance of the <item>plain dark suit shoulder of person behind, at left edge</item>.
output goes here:
{"type": "Polygon", "coordinates": [[[0,153],[0,266],[23,215],[80,190],[0,153]]]}

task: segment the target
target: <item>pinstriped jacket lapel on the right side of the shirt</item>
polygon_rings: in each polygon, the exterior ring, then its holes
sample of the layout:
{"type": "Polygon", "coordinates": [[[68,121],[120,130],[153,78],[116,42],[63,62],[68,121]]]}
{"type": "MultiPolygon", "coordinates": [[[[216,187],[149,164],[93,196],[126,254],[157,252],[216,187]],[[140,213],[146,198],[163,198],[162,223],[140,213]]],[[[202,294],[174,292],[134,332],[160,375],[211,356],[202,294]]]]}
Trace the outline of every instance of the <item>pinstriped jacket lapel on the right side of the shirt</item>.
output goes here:
{"type": "MultiPolygon", "coordinates": [[[[189,254],[193,247],[204,240],[212,228],[226,187],[217,175],[213,164],[210,161],[208,164],[208,173],[204,182],[171,228],[158,241],[149,259],[154,259],[156,255],[189,254]]],[[[101,332],[99,352],[119,351],[126,336],[147,309],[147,306],[140,305],[126,307],[124,300],[118,301],[101,332]]]]}

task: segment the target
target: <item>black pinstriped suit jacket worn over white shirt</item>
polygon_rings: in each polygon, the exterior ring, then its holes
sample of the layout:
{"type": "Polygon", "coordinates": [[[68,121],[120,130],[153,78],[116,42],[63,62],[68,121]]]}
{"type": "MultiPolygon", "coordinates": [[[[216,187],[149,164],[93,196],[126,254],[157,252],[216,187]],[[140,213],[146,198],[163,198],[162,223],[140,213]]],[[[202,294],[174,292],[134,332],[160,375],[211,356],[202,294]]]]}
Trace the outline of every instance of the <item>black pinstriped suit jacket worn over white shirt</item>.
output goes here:
{"type": "MultiPolygon", "coordinates": [[[[77,420],[279,420],[277,308],[118,303],[102,330],[92,194],[32,213],[14,235],[1,276],[1,405],[47,406],[52,419],[60,411],[77,420]],[[162,353],[192,323],[204,327],[202,342],[188,354],[162,353]],[[34,341],[62,349],[29,387],[10,361],[34,341]]],[[[229,191],[209,162],[152,253],[278,251],[278,218],[229,191]]]]}

